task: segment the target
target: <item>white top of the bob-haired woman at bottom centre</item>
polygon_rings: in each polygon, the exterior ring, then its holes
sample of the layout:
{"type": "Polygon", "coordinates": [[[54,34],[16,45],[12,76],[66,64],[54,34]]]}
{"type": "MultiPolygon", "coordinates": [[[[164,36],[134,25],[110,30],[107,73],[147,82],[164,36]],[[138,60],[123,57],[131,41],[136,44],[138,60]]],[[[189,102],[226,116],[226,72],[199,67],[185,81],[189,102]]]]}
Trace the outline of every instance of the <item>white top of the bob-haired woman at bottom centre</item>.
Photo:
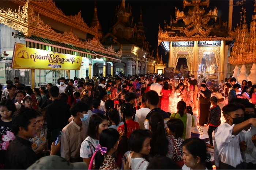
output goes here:
{"type": "Polygon", "coordinates": [[[127,161],[129,162],[129,169],[147,169],[149,162],[144,158],[131,158],[131,152],[132,151],[128,151],[125,153],[125,155],[127,155],[127,161]]]}

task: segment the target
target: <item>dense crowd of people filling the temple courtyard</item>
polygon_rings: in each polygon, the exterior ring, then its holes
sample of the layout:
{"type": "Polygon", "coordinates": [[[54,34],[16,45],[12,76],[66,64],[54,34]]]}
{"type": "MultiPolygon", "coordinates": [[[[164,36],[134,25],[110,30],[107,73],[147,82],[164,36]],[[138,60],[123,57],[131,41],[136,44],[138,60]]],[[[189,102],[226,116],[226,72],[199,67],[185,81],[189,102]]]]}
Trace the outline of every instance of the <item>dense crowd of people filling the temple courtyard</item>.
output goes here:
{"type": "Polygon", "coordinates": [[[33,90],[14,82],[2,87],[0,169],[58,169],[51,161],[62,169],[212,169],[207,147],[217,169],[255,169],[256,85],[246,80],[120,73],[33,90]],[[169,106],[170,96],[182,99],[169,106]],[[210,144],[197,123],[208,126],[210,144]]]}

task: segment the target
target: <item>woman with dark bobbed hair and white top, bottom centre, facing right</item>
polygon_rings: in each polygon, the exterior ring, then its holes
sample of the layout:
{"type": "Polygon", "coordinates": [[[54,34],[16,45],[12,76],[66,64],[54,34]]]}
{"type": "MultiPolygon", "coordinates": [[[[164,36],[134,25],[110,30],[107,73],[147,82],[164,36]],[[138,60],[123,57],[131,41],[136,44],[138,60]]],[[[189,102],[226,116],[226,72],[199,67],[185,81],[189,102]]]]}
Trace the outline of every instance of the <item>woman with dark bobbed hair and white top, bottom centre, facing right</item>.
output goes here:
{"type": "Polygon", "coordinates": [[[150,153],[150,135],[146,130],[136,129],[132,132],[128,146],[131,149],[125,153],[124,169],[147,169],[149,162],[145,155],[150,153]],[[129,168],[128,168],[128,167],[129,168]]]}

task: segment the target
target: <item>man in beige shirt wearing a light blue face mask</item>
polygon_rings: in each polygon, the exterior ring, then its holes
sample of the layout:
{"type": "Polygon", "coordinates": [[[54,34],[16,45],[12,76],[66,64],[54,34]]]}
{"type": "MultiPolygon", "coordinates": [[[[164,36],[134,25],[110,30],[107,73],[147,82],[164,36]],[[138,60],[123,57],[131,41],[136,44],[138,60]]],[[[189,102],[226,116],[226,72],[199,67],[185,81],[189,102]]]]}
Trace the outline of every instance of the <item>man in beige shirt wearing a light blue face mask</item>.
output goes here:
{"type": "Polygon", "coordinates": [[[60,155],[71,163],[83,162],[80,157],[80,147],[86,136],[82,122],[87,120],[88,110],[89,107],[84,102],[74,103],[70,108],[74,118],[62,130],[60,155]]]}

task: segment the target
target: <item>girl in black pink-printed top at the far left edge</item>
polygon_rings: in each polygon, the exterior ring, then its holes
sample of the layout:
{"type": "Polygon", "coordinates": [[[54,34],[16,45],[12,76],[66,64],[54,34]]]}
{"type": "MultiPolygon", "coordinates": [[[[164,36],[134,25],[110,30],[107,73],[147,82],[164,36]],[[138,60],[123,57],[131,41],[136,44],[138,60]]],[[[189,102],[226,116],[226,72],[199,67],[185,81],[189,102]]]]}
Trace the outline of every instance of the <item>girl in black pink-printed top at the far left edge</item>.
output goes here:
{"type": "Polygon", "coordinates": [[[5,153],[10,142],[15,138],[12,133],[12,115],[16,111],[16,107],[11,99],[3,99],[0,102],[0,169],[4,168],[5,153]]]}

